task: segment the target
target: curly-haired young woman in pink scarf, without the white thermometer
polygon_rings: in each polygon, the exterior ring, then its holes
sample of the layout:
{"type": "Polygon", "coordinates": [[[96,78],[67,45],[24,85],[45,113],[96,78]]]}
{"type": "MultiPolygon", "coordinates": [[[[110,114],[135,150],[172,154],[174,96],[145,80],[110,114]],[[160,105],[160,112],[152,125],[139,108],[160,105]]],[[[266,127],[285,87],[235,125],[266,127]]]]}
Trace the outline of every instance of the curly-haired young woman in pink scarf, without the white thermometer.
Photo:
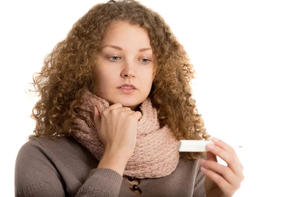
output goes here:
{"type": "Polygon", "coordinates": [[[231,197],[244,176],[228,144],[177,150],[180,139],[211,137],[191,68],[158,13],[134,0],[93,6],[33,78],[41,98],[16,158],[15,195],[231,197]]]}

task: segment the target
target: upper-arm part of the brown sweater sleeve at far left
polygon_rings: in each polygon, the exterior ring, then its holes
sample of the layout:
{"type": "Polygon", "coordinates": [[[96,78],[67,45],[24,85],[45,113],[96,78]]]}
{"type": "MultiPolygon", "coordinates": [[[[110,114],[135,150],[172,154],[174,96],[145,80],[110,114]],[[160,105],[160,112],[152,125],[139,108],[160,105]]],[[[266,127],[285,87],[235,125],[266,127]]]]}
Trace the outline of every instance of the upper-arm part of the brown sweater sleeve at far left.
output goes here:
{"type": "Polygon", "coordinates": [[[14,170],[15,197],[65,197],[62,182],[38,141],[32,139],[20,148],[14,170]]]}

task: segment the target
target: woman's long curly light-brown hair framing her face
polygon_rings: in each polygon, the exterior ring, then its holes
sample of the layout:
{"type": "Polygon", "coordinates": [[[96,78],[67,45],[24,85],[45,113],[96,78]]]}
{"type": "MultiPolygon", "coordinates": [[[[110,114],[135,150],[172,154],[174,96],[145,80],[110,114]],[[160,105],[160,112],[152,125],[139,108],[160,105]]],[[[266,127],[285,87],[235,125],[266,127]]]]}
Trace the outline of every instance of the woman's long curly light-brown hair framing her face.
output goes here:
{"type": "MultiPolygon", "coordinates": [[[[95,94],[94,65],[108,26],[124,21],[145,29],[156,57],[156,74],[148,95],[157,109],[160,127],[167,125],[180,139],[205,139],[207,134],[201,114],[195,108],[189,82],[195,78],[184,47],[164,19],[136,0],[110,0],[94,5],[84,14],[44,58],[40,72],[33,74],[35,90],[41,96],[32,110],[36,120],[34,135],[57,138],[69,136],[82,90],[95,94]],[[34,77],[34,75],[37,76],[34,77]]],[[[183,152],[184,159],[197,159],[204,152],[183,152]]]]}

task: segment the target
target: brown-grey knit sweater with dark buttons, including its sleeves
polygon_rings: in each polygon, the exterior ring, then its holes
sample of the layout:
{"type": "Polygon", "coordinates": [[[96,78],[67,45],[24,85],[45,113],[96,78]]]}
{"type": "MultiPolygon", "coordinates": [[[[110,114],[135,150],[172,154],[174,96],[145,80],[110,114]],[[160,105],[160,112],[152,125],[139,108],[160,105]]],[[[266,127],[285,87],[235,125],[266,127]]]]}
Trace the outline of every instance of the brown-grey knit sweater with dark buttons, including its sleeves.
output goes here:
{"type": "Polygon", "coordinates": [[[73,136],[26,142],[15,163],[16,197],[205,197],[198,160],[180,159],[168,176],[129,180],[99,161],[73,136]],[[131,183],[132,181],[132,183],[131,183]],[[138,189],[134,191],[134,183],[138,189]]]}

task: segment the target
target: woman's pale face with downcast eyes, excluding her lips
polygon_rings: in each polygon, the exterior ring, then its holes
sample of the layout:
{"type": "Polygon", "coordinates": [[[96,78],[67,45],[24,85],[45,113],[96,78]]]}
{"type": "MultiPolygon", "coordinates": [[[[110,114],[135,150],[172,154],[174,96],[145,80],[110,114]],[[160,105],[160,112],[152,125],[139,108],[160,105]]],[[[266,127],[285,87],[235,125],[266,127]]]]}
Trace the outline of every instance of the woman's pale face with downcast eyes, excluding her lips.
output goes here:
{"type": "Polygon", "coordinates": [[[147,99],[154,78],[154,55],[144,29],[126,22],[113,22],[102,42],[95,65],[95,90],[110,105],[121,103],[133,111],[147,99]],[[112,47],[113,46],[113,47],[112,47]],[[118,87],[133,84],[132,93],[118,87]]]}

